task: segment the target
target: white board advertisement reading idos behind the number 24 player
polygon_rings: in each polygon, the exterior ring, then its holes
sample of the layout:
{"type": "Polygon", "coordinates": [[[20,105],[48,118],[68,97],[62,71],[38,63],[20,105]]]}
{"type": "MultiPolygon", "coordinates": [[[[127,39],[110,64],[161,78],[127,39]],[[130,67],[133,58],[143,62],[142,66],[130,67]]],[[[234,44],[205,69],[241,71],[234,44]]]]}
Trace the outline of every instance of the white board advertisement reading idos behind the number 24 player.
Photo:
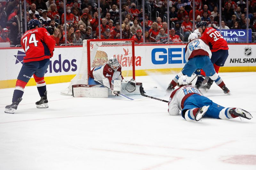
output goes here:
{"type": "MultiPolygon", "coordinates": [[[[36,51],[35,51],[36,52],[36,51]]],[[[0,80],[16,79],[23,64],[23,49],[1,49],[0,80]]],[[[55,48],[45,77],[76,74],[82,56],[82,48],[55,48]]]]}

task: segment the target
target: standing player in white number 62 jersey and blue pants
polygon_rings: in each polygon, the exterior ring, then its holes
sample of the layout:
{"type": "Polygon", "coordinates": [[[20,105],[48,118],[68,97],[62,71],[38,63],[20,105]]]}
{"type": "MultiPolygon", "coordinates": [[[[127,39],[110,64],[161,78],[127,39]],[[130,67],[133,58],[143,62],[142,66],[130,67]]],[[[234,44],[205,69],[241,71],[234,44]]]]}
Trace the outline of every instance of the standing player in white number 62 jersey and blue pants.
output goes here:
{"type": "Polygon", "coordinates": [[[203,40],[199,39],[196,33],[191,33],[188,37],[188,41],[189,43],[185,48],[185,59],[187,63],[181,72],[178,73],[175,78],[173,78],[166,92],[171,92],[174,90],[180,76],[187,75],[188,77],[191,77],[195,70],[203,69],[206,76],[215,81],[215,83],[223,90],[225,94],[230,93],[225,83],[214,70],[210,60],[212,52],[209,46],[203,40]]]}

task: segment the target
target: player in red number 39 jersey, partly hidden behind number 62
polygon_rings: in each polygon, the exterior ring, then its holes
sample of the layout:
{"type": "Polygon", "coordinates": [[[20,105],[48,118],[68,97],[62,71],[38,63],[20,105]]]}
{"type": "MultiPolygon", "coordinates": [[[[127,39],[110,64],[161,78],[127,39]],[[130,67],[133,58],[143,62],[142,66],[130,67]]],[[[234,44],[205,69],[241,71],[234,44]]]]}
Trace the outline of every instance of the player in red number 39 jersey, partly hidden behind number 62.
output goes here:
{"type": "MultiPolygon", "coordinates": [[[[212,52],[212,64],[214,66],[215,71],[218,73],[221,66],[224,66],[228,58],[228,43],[221,36],[220,32],[212,27],[206,27],[207,23],[205,21],[201,21],[196,24],[196,28],[201,33],[201,38],[204,40],[210,47],[212,52]]],[[[201,76],[198,76],[196,85],[201,86],[204,81],[205,73],[201,72],[201,76]]],[[[209,78],[207,84],[204,86],[204,89],[210,89],[213,80],[209,78]]]]}

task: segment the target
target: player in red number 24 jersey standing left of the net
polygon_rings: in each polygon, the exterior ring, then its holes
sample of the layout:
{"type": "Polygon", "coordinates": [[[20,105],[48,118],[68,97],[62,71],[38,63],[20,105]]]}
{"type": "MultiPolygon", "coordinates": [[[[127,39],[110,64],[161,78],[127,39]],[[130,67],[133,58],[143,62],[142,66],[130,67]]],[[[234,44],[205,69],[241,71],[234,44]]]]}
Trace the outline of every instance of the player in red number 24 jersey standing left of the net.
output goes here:
{"type": "Polygon", "coordinates": [[[28,22],[28,31],[21,37],[21,46],[26,52],[24,64],[18,75],[12,96],[12,104],[5,107],[5,113],[14,113],[22,100],[24,88],[32,76],[36,81],[41,99],[36,102],[37,108],[48,108],[46,83],[44,73],[53,55],[55,41],[37,19],[28,22]]]}

